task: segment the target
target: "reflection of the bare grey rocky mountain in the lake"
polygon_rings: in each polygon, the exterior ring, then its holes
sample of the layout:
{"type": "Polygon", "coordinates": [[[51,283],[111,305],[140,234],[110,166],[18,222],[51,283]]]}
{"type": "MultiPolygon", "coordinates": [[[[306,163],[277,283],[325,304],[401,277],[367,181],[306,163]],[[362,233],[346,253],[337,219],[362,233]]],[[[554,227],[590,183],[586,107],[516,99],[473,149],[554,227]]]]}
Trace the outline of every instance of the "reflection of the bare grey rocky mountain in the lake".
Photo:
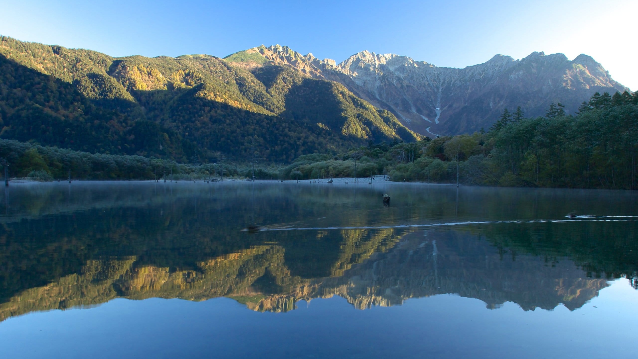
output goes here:
{"type": "Polygon", "coordinates": [[[360,309],[451,293],[480,299],[488,308],[515,302],[525,310],[553,309],[563,303],[574,310],[607,286],[604,279],[588,279],[566,258],[548,263],[530,255],[503,257],[475,236],[456,231],[426,234],[324,283],[360,309]]]}

